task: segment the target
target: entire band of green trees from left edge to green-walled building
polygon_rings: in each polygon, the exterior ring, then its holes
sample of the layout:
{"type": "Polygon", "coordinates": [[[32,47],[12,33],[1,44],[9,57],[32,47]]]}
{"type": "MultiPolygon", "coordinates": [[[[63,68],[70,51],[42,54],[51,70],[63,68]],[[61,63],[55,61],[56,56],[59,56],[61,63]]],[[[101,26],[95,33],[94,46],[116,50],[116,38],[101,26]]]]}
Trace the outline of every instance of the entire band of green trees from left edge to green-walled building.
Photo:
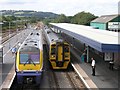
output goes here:
{"type": "Polygon", "coordinates": [[[16,29],[16,28],[23,28],[26,23],[37,23],[39,21],[42,21],[44,24],[49,23],[72,23],[72,24],[80,24],[80,25],[90,25],[90,22],[97,18],[92,13],[89,12],[79,12],[75,14],[74,16],[66,16],[65,14],[60,14],[55,18],[41,18],[41,17],[16,17],[16,16],[0,16],[0,21],[4,24],[2,25],[2,30],[7,29],[16,29]],[[28,21],[25,21],[28,20],[28,21]],[[13,22],[18,21],[18,22],[13,22]],[[10,27],[9,27],[10,23],[10,27]]]}

